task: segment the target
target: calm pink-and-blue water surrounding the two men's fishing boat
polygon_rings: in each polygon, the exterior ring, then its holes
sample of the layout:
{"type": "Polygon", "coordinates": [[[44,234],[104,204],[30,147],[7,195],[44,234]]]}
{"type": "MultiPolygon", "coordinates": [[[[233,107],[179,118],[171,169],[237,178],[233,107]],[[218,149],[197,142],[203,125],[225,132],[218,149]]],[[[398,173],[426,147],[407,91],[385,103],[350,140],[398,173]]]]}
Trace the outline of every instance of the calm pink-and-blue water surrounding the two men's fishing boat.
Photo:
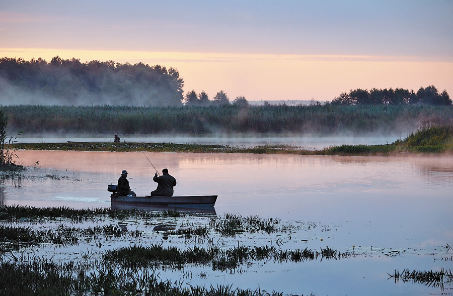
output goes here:
{"type": "MultiPolygon", "coordinates": [[[[116,183],[122,169],[129,172],[130,185],[138,195],[156,187],[155,170],[143,153],[17,154],[24,165],[39,161],[40,168],[29,169],[21,187],[0,187],[6,205],[110,207],[107,184],[116,183]]],[[[318,225],[300,234],[298,241],[288,240],[285,249],[329,246],[345,252],[353,251],[354,245],[354,251],[361,254],[337,261],[261,264],[246,267],[242,274],[211,270],[208,282],[198,279],[202,284],[214,281],[317,295],[453,293],[451,285],[442,291],[411,282],[395,283],[387,274],[405,268],[453,268],[451,260],[442,259],[453,255],[453,250],[445,248],[453,246],[452,157],[146,155],[156,168],[167,167],[176,177],[175,194],[218,194],[218,215],[258,215],[318,225]],[[389,256],[392,250],[401,255],[389,256]]],[[[201,267],[192,268],[194,273],[197,268],[201,267]]]]}

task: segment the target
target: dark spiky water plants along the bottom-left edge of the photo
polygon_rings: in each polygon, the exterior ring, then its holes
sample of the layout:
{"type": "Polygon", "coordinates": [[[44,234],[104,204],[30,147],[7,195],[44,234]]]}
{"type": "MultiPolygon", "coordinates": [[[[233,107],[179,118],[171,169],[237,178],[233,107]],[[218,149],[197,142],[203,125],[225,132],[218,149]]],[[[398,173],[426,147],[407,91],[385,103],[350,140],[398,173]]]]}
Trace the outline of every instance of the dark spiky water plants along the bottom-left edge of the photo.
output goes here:
{"type": "Polygon", "coordinates": [[[146,296],[282,296],[232,286],[186,286],[158,279],[148,269],[117,269],[101,264],[56,263],[47,259],[26,262],[0,262],[2,295],[146,295],[146,296]]]}

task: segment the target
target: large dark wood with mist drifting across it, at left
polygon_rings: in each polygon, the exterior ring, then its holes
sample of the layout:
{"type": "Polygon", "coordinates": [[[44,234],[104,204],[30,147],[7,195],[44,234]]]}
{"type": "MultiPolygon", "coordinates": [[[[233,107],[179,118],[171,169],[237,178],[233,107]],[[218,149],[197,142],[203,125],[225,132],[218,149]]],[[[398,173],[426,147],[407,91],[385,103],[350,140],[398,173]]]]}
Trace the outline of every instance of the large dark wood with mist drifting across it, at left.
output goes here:
{"type": "Polygon", "coordinates": [[[160,65],[0,59],[3,105],[182,106],[183,85],[176,69],[160,65]]]}

